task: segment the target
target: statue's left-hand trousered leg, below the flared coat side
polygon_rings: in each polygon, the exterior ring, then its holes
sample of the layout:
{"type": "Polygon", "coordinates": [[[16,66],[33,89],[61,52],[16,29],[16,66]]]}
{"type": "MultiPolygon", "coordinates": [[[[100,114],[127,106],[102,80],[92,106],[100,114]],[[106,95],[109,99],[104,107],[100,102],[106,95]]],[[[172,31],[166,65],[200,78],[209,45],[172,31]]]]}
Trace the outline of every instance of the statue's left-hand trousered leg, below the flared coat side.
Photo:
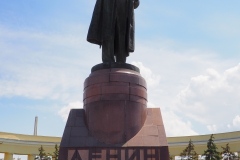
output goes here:
{"type": "Polygon", "coordinates": [[[103,63],[115,62],[114,60],[114,40],[109,37],[102,43],[102,61],[103,63]]]}

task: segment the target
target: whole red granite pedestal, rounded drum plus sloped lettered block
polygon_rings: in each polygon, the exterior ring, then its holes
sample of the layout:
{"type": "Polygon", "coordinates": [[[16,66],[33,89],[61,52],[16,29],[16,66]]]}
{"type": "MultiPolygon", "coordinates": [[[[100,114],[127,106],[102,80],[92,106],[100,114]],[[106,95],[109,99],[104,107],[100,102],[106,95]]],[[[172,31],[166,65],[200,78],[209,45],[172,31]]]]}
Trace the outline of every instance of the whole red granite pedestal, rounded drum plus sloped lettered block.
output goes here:
{"type": "Polygon", "coordinates": [[[105,67],[84,83],[84,109],[72,109],[59,160],[168,160],[159,108],[147,108],[138,70],[105,67]]]}

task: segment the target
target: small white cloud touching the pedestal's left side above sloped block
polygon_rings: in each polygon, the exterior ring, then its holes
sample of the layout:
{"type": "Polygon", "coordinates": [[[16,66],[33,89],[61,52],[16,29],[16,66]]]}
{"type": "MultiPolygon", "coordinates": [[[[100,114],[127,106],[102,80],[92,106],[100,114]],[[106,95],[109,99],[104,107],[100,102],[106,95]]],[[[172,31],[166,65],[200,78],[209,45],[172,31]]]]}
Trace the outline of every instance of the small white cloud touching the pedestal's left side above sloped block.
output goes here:
{"type": "Polygon", "coordinates": [[[80,101],[71,102],[67,106],[60,109],[58,111],[58,115],[61,116],[61,118],[63,119],[64,122],[66,122],[71,109],[74,109],[74,108],[79,109],[79,108],[82,108],[82,107],[83,107],[83,103],[80,102],[80,101]]]}

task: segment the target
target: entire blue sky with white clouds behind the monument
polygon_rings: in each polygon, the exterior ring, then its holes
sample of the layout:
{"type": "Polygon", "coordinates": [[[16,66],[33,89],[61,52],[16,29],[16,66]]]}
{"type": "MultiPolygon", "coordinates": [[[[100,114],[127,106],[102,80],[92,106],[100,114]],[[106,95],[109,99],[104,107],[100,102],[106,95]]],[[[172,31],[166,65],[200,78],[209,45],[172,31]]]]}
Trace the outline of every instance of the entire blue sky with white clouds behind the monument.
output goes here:
{"type": "MultiPolygon", "coordinates": [[[[0,1],[0,132],[62,136],[101,63],[86,41],[95,0],[0,1]]],[[[148,0],[135,10],[148,107],[168,137],[240,130],[240,1],[148,0]]]]}

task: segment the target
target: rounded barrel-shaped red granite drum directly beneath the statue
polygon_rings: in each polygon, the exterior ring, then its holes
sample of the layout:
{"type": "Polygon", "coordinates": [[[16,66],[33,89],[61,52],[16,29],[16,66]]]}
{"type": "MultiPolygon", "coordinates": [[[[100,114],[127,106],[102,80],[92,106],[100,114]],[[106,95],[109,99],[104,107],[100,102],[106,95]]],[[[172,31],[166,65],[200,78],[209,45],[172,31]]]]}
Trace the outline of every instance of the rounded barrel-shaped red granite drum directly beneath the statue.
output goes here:
{"type": "Polygon", "coordinates": [[[146,120],[147,85],[140,73],[131,69],[95,70],[84,82],[83,103],[93,137],[108,144],[124,143],[146,120]]]}

